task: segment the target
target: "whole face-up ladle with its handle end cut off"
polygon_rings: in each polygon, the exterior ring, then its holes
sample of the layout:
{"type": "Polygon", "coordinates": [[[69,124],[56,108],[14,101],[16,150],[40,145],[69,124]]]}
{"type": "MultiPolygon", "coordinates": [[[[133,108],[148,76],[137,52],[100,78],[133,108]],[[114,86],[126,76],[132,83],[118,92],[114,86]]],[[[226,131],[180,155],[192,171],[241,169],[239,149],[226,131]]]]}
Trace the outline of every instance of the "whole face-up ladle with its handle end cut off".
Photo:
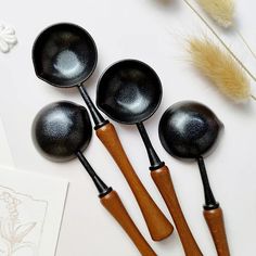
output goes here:
{"type": "Polygon", "coordinates": [[[162,84],[157,74],[137,60],[113,64],[98,84],[99,108],[118,123],[137,125],[149,154],[151,176],[174,218],[185,254],[202,255],[180,208],[169,170],[156,154],[143,125],[161,100],[162,84]]]}

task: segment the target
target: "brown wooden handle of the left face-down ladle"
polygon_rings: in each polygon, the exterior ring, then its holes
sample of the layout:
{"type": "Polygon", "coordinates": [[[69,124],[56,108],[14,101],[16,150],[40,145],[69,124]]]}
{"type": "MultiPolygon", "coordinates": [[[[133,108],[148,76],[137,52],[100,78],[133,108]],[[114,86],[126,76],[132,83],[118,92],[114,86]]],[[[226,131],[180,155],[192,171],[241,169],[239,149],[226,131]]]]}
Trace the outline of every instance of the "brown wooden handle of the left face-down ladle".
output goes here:
{"type": "Polygon", "coordinates": [[[139,229],[136,227],[115,191],[112,190],[108,194],[101,197],[101,203],[130,236],[141,255],[156,256],[153,248],[149,245],[139,229]]]}

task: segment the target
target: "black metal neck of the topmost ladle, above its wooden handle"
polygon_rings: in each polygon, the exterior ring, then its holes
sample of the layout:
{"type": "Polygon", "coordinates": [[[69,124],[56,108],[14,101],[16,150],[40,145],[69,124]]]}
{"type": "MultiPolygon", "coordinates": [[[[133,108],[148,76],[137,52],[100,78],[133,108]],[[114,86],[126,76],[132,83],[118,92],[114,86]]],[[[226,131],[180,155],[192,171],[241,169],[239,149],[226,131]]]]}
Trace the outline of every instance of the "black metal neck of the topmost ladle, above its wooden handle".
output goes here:
{"type": "Polygon", "coordinates": [[[78,86],[79,92],[85,100],[89,112],[91,113],[92,119],[94,121],[94,129],[98,130],[102,126],[106,125],[108,120],[104,119],[101,113],[98,111],[90,97],[88,95],[86,89],[82,87],[82,84],[78,86]]]}

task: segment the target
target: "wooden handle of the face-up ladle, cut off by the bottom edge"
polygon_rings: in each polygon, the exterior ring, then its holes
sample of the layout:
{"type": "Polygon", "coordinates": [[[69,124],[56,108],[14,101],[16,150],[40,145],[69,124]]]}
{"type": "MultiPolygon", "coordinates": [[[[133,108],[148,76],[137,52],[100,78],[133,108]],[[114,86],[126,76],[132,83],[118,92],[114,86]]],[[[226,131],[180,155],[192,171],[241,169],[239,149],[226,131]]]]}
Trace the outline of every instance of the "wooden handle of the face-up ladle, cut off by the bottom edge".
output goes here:
{"type": "Polygon", "coordinates": [[[169,213],[175,221],[175,226],[180,236],[185,255],[199,256],[203,255],[196,244],[190,228],[185,221],[181,210],[179,201],[177,199],[175,188],[170,178],[170,172],[167,166],[151,171],[151,177],[159,190],[169,213]]]}

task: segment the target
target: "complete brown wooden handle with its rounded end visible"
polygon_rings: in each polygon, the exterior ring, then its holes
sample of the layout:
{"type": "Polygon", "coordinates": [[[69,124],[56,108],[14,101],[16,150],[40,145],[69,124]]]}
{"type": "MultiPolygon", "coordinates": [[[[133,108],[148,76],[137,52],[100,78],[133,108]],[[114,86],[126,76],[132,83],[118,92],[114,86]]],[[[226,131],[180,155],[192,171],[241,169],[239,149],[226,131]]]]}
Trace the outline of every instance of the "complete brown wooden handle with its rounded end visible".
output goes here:
{"type": "Polygon", "coordinates": [[[106,124],[97,130],[97,136],[111,153],[129,183],[145,219],[152,240],[161,241],[169,236],[174,231],[174,227],[157,207],[135,172],[114,126],[106,124]]]}

